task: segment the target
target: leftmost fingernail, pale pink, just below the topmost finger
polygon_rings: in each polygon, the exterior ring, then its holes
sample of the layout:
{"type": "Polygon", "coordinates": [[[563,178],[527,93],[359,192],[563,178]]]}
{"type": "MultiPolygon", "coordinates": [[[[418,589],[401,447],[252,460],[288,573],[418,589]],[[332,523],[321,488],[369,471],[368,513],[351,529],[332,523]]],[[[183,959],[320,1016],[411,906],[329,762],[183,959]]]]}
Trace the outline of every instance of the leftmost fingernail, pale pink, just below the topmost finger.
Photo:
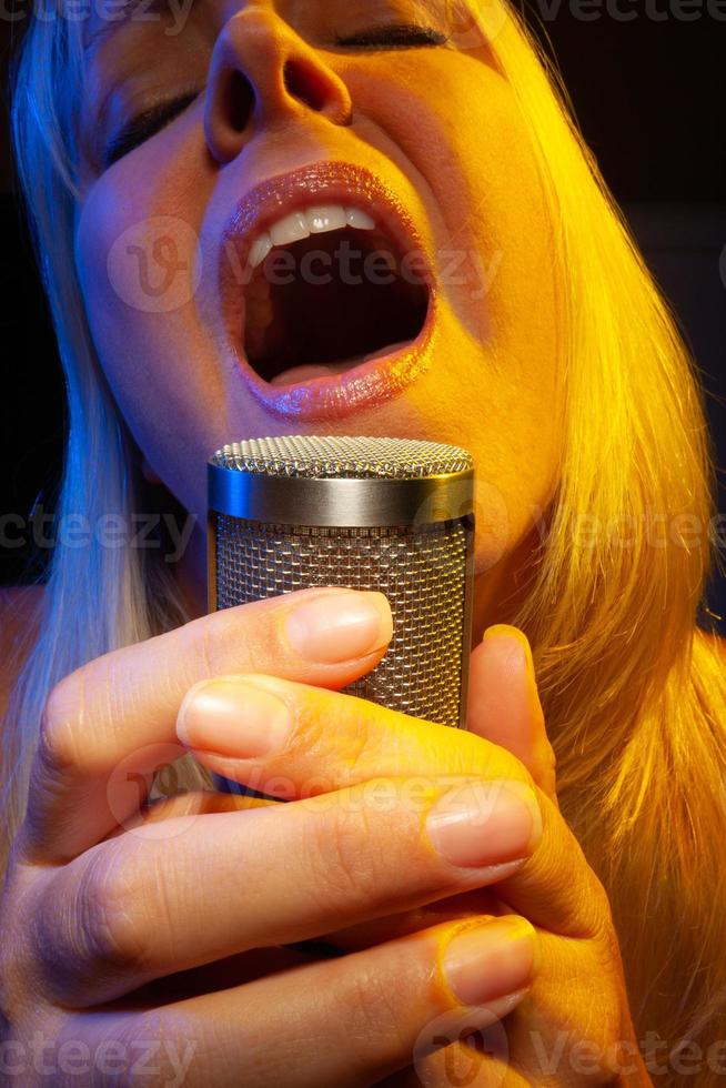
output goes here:
{"type": "Polygon", "coordinates": [[[177,735],[190,748],[255,759],[284,746],[291,722],[272,692],[246,681],[215,678],[195,684],[177,718],[177,735]]]}

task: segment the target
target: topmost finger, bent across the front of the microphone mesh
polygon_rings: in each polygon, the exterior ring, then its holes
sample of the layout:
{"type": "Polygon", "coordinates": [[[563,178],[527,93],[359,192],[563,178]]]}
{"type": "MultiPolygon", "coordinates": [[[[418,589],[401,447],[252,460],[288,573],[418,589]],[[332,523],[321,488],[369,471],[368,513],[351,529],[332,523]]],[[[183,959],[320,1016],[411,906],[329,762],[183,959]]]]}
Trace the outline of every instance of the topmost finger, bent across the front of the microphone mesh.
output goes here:
{"type": "Polygon", "coordinates": [[[154,773],[184,754],[174,722],[196,681],[242,669],[344,687],[375,667],[391,633],[383,594],[311,588],[202,616],[83,665],[46,703],[20,858],[68,860],[143,804],[154,773]]]}

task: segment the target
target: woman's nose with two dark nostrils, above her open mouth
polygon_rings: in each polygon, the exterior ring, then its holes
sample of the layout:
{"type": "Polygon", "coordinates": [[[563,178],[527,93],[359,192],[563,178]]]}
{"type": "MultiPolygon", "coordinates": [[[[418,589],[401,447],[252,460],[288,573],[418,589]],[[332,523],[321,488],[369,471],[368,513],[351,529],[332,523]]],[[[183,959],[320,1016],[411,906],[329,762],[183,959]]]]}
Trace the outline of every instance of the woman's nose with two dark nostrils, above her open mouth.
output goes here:
{"type": "Polygon", "coordinates": [[[204,108],[218,162],[232,160],[256,132],[313,113],[350,124],[345,83],[269,7],[250,3],[233,14],[214,47],[204,108]]]}

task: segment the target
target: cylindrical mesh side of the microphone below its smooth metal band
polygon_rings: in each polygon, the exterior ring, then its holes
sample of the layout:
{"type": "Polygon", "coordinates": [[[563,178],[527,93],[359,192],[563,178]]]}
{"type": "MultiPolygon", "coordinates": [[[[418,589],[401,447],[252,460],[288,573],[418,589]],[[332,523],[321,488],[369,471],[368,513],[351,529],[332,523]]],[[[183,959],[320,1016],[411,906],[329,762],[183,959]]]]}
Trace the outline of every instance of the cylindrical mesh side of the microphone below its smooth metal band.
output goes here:
{"type": "Polygon", "coordinates": [[[218,607],[312,585],[385,593],[393,638],[345,692],[460,724],[467,533],[464,521],[407,528],[307,528],[215,514],[218,607]]]}

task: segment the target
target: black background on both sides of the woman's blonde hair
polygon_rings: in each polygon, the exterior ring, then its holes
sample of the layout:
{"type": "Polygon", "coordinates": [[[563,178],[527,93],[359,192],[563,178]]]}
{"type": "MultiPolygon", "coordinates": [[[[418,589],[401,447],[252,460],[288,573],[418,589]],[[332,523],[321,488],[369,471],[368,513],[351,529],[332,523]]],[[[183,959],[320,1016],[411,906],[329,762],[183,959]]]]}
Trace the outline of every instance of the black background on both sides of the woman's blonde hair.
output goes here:
{"type": "MultiPolygon", "coordinates": [[[[563,73],[587,142],[702,370],[718,463],[726,466],[726,3],[617,0],[625,21],[577,0],[534,0],[526,13],[563,73]],[[547,6],[549,12],[547,12],[547,6]],[[556,14],[554,14],[556,12],[556,14]],[[586,14],[586,19],[582,16],[586,14]],[[686,21],[683,16],[688,16],[686,21]],[[595,16],[595,18],[593,18],[595,16]],[[720,16],[720,18],[717,18],[720,16]],[[723,270],[723,271],[722,271],[723,270]]],[[[23,9],[27,10],[27,9],[23,9]]],[[[52,508],[63,394],[46,303],[13,197],[7,61],[21,24],[0,16],[0,323],[4,344],[0,514],[27,516],[41,488],[52,508]]],[[[726,473],[720,473],[726,513],[726,473]]],[[[23,576],[23,548],[0,546],[0,584],[23,576]]],[[[726,614],[715,577],[708,607],[726,614]]],[[[726,623],[722,624],[726,634],[726,623]]]]}

